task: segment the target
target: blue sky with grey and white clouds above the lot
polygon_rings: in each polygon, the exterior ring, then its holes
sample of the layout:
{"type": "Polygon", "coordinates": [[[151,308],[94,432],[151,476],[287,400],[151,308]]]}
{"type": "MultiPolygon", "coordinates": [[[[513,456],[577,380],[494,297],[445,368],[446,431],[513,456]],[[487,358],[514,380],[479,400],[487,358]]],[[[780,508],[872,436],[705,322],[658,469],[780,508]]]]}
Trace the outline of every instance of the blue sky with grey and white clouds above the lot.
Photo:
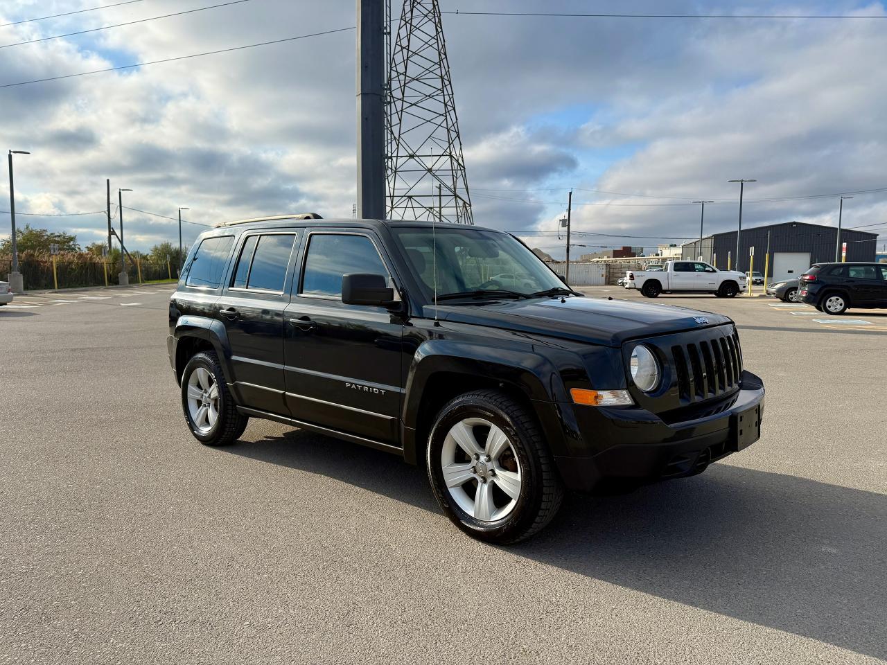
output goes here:
{"type": "MultiPolygon", "coordinates": [[[[34,43],[225,0],[137,0],[0,27],[0,86],[354,25],[353,0],[248,0],[34,43]]],[[[4,0],[0,24],[120,0],[4,0]]],[[[396,0],[395,0],[396,4],[396,0]]],[[[881,2],[441,0],[444,12],[883,16],[881,2]]],[[[887,244],[887,19],[617,19],[468,16],[443,25],[475,222],[562,255],[554,231],[574,190],[577,239],[655,246],[699,231],[798,220],[871,225],[887,244]],[[826,196],[818,196],[826,195],[826,196]],[[878,226],[878,223],[882,223],[878,226]],[[632,236],[639,238],[632,238],[632,236]],[[656,237],[659,238],[656,238],[656,237]]],[[[202,58],[0,87],[0,148],[17,156],[20,213],[124,206],[195,223],[355,200],[353,31],[202,58]]],[[[5,164],[0,210],[8,210],[5,164]]],[[[106,238],[103,215],[22,215],[106,238]]],[[[124,210],[127,245],[177,224],[124,210]]],[[[116,224],[116,220],[115,220],[116,224]]],[[[190,242],[203,227],[185,224],[190,242]]],[[[0,235],[9,215],[0,214],[0,235]]]]}

